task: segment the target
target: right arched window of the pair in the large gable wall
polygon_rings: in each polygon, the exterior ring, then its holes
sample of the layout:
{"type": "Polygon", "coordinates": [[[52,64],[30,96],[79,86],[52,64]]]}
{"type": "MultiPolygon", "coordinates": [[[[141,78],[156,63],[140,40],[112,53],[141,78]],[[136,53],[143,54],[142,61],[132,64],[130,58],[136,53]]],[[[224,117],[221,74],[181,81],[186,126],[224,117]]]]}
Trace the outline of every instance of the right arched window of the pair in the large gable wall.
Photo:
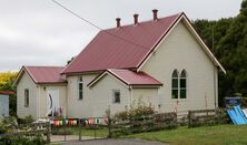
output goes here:
{"type": "Polygon", "coordinates": [[[180,99],[187,97],[187,72],[186,70],[181,71],[180,77],[179,77],[179,95],[180,99]]]}

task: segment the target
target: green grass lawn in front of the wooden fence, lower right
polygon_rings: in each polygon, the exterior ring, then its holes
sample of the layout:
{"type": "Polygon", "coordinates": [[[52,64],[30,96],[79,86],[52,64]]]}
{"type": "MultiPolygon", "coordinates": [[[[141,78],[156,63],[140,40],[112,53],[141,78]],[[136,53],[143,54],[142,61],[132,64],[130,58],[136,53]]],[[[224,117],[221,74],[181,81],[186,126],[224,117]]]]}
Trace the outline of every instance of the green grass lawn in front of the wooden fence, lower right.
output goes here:
{"type": "Polygon", "coordinates": [[[158,141],[174,145],[238,145],[247,144],[247,125],[179,127],[121,137],[158,141]]]}

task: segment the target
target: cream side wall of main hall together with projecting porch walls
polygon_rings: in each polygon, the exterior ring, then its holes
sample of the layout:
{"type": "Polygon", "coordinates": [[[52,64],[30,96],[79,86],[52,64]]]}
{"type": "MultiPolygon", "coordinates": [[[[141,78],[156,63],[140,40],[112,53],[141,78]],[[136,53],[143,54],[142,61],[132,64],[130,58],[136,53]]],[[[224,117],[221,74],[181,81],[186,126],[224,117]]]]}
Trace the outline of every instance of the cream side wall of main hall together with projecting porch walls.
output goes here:
{"type": "Polygon", "coordinates": [[[83,100],[78,100],[78,77],[68,76],[68,117],[103,117],[106,111],[110,108],[111,114],[137,106],[139,99],[141,104],[151,105],[158,110],[158,89],[129,89],[128,85],[107,74],[90,89],[86,85],[97,75],[82,75],[83,100]],[[113,103],[113,90],[120,91],[120,103],[113,103]],[[132,101],[132,103],[131,103],[132,101]]]}

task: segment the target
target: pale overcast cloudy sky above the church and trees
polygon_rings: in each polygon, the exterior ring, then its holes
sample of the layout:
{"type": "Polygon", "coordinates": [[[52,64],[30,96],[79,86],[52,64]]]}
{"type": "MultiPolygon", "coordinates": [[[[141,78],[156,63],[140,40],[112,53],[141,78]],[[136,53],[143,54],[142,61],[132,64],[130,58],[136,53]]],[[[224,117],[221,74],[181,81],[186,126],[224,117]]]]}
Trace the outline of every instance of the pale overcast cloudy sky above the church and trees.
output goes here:
{"type": "MultiPolygon", "coordinates": [[[[56,0],[78,15],[108,29],[185,12],[190,20],[235,17],[241,0],[56,0]]],[[[22,65],[66,65],[99,29],[72,15],[51,0],[0,0],[0,72],[22,65]]]]}

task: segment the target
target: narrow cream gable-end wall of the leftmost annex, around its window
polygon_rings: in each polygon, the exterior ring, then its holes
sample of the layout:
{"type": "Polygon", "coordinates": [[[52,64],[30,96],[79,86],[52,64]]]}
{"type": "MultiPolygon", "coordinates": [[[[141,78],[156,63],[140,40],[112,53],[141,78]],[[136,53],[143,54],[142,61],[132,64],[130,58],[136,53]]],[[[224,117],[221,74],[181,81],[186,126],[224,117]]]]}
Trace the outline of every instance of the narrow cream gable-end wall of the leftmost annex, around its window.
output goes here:
{"type": "Polygon", "coordinates": [[[24,72],[21,80],[17,85],[17,115],[19,117],[24,117],[27,115],[32,115],[37,118],[37,95],[38,90],[31,77],[24,72]],[[29,107],[24,106],[24,89],[29,89],[29,107]]]}

